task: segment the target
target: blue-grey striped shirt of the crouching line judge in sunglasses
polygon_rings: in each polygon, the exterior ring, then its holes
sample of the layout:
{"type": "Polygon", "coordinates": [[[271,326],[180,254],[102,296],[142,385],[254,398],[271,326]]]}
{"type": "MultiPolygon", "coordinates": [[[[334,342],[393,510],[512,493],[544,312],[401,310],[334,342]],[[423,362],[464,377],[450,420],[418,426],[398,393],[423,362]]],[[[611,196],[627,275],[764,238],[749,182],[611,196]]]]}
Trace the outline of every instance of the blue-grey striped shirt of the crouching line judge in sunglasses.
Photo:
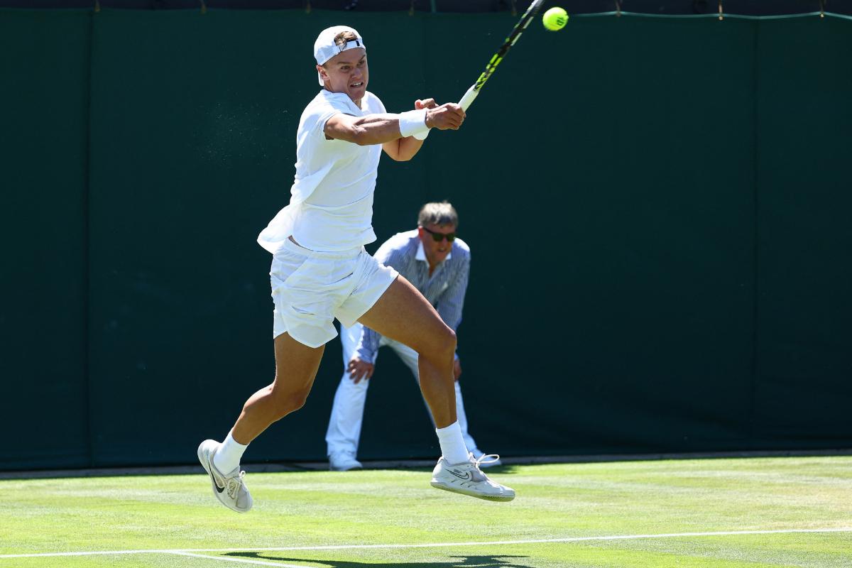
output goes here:
{"type": "MultiPolygon", "coordinates": [[[[375,257],[406,277],[435,307],[444,323],[453,331],[458,329],[458,324],[462,323],[464,292],[468,288],[470,274],[470,249],[461,238],[452,241],[450,254],[435,267],[431,277],[429,261],[423,252],[423,243],[417,237],[417,229],[396,233],[378,248],[375,257]]],[[[355,350],[358,358],[374,363],[381,338],[377,331],[365,327],[355,350]]]]}

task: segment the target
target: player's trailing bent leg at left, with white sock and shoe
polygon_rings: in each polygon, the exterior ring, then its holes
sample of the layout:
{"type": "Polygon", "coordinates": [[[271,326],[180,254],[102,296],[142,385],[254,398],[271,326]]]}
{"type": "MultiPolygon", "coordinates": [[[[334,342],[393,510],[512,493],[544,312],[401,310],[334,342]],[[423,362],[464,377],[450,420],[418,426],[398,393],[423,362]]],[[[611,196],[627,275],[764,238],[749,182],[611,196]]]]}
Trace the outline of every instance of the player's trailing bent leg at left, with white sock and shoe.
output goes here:
{"type": "Polygon", "coordinates": [[[275,338],[275,379],[252,394],[224,443],[207,439],[199,445],[199,462],[210,475],[213,494],[227,508],[247,512],[251,495],[239,471],[245,447],[270,424],[302,408],[320,368],[323,347],[307,347],[289,334],[275,338]]]}

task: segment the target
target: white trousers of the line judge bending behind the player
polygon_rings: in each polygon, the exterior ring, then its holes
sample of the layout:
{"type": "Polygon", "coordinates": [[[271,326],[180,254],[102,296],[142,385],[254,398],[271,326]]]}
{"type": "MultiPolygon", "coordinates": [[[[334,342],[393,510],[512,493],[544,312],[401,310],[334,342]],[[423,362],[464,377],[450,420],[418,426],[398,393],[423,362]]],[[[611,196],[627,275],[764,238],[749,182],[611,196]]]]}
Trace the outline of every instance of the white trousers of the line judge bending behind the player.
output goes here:
{"type": "MultiPolygon", "coordinates": [[[[358,454],[358,441],[361,435],[361,424],[364,422],[364,404],[367,399],[367,388],[370,387],[370,381],[362,379],[355,383],[352,377],[346,370],[349,360],[352,359],[355,353],[355,347],[358,347],[361,330],[363,325],[354,324],[350,328],[340,327],[340,339],[343,342],[343,377],[340,379],[340,385],[337,386],[337,393],[334,395],[334,405],[331,407],[331,419],[328,422],[328,431],[325,433],[325,443],[328,445],[328,455],[338,451],[350,451],[353,455],[358,454]]],[[[388,346],[392,348],[397,355],[400,356],[402,362],[412,370],[417,385],[420,384],[420,372],[417,370],[417,352],[411,347],[382,337],[379,341],[379,347],[388,346]]],[[[378,356],[376,357],[378,360],[378,356]]],[[[462,401],[462,390],[456,384],[456,415],[458,416],[458,425],[462,428],[462,437],[464,445],[468,451],[476,449],[476,442],[468,433],[468,419],[464,414],[464,404],[462,401]]],[[[424,401],[425,402],[425,401],[424,401]]],[[[429,410],[429,405],[426,406],[429,410]]],[[[429,417],[432,413],[429,412],[429,417]]],[[[432,419],[432,425],[435,425],[435,419],[432,419]]]]}

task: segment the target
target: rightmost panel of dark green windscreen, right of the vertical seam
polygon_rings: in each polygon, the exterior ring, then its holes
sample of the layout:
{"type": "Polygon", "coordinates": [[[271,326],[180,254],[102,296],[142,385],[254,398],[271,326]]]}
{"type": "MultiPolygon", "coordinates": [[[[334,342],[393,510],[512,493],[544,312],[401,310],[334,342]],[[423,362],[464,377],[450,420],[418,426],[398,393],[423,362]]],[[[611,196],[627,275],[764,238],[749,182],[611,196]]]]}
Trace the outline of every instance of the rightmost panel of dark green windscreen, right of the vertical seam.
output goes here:
{"type": "Polygon", "coordinates": [[[849,24],[759,29],[754,433],[775,447],[852,432],[849,24]]]}

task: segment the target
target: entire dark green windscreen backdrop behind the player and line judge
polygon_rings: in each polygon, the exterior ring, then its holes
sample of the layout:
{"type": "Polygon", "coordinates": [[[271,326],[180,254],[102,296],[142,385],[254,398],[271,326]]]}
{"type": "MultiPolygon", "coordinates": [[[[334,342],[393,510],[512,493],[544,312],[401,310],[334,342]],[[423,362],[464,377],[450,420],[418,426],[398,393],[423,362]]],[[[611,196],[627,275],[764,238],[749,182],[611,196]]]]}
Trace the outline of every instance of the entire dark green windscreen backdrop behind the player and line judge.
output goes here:
{"type": "MultiPolygon", "coordinates": [[[[288,199],[317,32],[357,27],[401,111],[457,100],[513,20],[0,10],[0,468],[191,463],[221,439],[273,376],[255,238],[288,199]]],[[[379,238],[447,198],[473,250],[482,449],[852,446],[850,26],[535,24],[463,129],[385,158],[379,238]]],[[[332,341],[246,461],[322,458],[341,371],[332,341]]],[[[391,353],[372,381],[361,456],[436,456],[391,353]]]]}

